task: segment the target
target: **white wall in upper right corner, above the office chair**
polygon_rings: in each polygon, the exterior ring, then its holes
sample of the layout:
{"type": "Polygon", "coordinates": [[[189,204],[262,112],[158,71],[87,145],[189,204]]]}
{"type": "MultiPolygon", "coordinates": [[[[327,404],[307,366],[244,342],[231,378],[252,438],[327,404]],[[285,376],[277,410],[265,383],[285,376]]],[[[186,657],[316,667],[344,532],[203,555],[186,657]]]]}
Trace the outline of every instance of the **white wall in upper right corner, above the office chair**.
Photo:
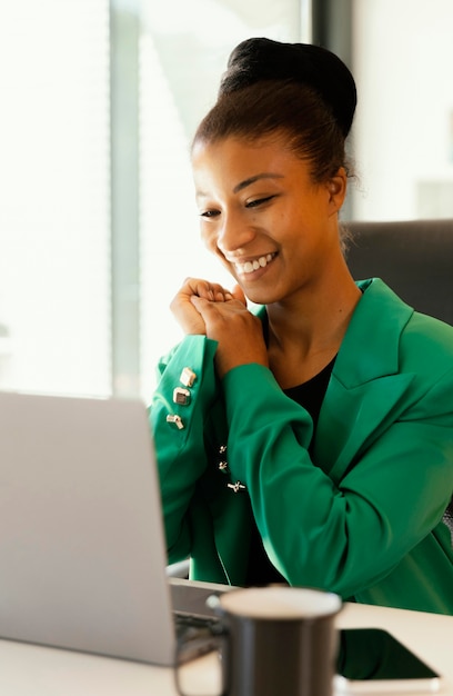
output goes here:
{"type": "Polygon", "coordinates": [[[452,0],[355,0],[358,219],[453,216],[452,27],[452,0]]]}

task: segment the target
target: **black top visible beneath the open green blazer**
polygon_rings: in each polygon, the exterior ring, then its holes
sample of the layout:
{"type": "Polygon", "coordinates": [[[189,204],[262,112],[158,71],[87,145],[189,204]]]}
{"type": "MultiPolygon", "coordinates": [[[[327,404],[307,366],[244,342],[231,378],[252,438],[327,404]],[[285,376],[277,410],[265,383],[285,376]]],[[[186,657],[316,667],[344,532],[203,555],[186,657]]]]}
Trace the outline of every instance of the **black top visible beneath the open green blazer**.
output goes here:
{"type": "MultiPolygon", "coordinates": [[[[298,387],[284,389],[286,396],[303,406],[313,419],[313,432],[316,429],[321,405],[328,389],[329,380],[335,358],[321,372],[298,387]]],[[[246,585],[269,585],[270,583],[285,583],[283,576],[273,567],[264,551],[256,525],[252,527],[249,568],[246,585]]]]}

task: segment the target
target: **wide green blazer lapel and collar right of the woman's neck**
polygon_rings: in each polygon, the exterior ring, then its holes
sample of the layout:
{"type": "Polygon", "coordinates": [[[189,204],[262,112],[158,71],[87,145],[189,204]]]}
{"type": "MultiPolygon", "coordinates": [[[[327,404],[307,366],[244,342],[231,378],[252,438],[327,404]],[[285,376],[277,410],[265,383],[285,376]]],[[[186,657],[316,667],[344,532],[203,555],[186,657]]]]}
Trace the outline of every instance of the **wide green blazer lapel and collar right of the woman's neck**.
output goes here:
{"type": "Polygon", "coordinates": [[[321,408],[313,458],[338,481],[371,437],[395,418],[412,375],[399,375],[400,336],[413,309],[381,280],[364,289],[335,360],[321,408]],[[390,319],[390,320],[389,320],[390,319]]]}

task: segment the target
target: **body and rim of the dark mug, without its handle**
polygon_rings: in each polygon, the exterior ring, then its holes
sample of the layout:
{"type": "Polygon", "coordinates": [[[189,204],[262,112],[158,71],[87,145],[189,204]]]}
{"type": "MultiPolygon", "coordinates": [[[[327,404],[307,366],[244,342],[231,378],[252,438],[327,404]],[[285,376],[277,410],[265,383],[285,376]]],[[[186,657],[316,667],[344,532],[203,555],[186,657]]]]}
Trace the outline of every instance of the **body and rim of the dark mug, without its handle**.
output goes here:
{"type": "Polygon", "coordinates": [[[271,585],[211,599],[222,637],[221,696],[331,696],[340,597],[271,585]]]}

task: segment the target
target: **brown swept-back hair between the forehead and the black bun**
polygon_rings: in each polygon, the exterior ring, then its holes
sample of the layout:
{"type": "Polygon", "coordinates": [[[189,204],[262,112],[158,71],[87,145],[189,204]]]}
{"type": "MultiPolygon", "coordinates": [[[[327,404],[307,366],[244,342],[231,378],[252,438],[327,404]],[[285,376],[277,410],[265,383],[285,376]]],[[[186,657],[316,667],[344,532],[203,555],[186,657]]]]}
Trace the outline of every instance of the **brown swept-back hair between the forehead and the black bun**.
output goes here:
{"type": "MultiPolygon", "coordinates": [[[[193,142],[229,136],[255,141],[275,137],[301,159],[311,162],[314,182],[325,181],[346,167],[344,136],[322,97],[293,81],[262,80],[223,92],[201,121],[193,142]]],[[[348,170],[348,167],[346,167],[348,170]]]]}

